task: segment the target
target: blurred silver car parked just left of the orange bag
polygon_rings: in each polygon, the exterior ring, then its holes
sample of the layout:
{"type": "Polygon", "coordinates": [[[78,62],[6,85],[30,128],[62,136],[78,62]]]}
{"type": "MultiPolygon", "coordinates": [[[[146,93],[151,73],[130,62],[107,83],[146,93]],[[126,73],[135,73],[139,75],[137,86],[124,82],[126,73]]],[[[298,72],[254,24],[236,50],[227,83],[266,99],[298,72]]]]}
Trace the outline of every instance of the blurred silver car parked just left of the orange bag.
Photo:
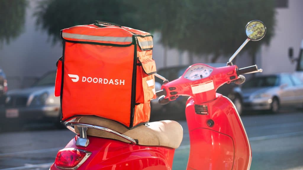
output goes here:
{"type": "MultiPolygon", "coordinates": [[[[48,72],[32,87],[8,91],[3,123],[59,123],[60,97],[54,96],[56,72],[48,72]]],[[[1,121],[0,120],[0,121],[1,121]]]]}

